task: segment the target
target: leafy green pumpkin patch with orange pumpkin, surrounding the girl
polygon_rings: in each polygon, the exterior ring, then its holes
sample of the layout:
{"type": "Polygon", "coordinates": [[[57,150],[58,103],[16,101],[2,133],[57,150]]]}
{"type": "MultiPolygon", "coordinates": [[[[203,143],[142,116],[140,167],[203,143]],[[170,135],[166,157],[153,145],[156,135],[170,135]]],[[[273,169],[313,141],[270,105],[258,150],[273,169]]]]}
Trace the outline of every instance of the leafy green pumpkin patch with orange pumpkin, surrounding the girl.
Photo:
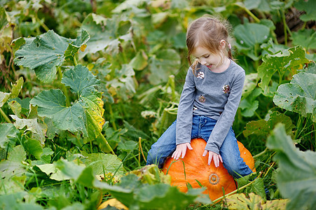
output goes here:
{"type": "Polygon", "coordinates": [[[0,209],[315,209],[310,0],[0,0],[0,209]],[[205,141],[146,165],[177,118],[188,23],[231,22],[246,72],[233,130],[253,174],[205,141]]]}

